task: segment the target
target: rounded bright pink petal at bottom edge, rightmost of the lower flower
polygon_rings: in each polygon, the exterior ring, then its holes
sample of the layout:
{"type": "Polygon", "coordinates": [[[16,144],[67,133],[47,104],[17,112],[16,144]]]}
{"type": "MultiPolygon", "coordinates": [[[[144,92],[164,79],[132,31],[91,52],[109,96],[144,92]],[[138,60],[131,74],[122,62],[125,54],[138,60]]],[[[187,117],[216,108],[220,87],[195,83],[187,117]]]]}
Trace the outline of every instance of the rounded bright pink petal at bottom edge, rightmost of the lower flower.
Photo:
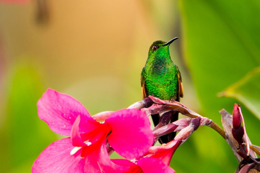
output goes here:
{"type": "Polygon", "coordinates": [[[144,172],[149,173],[174,173],[175,171],[164,164],[160,159],[145,157],[137,161],[144,172]]]}

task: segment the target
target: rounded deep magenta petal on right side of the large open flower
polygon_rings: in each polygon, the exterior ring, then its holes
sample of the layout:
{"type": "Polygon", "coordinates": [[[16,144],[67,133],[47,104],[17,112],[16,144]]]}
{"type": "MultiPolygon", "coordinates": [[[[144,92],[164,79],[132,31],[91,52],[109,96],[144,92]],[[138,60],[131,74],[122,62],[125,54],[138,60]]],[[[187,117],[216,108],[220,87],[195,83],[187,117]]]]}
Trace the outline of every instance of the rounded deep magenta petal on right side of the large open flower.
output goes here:
{"type": "Polygon", "coordinates": [[[112,128],[108,136],[110,146],[125,158],[143,155],[154,142],[149,119],[140,110],[119,110],[105,123],[112,128]]]}

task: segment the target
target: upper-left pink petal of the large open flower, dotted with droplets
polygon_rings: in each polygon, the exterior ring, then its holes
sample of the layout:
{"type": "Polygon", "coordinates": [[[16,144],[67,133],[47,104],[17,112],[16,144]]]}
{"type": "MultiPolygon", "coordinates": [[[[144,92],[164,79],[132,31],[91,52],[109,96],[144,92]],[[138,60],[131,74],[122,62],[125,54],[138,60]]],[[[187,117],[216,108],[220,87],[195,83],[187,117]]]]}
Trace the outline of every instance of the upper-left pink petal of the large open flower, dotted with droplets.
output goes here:
{"type": "MultiPolygon", "coordinates": [[[[81,115],[84,121],[96,122],[79,101],[53,89],[47,89],[38,100],[37,107],[40,119],[45,121],[53,132],[61,135],[70,135],[72,125],[78,115],[81,115]]],[[[80,128],[80,133],[87,128],[92,127],[80,128]]]]}

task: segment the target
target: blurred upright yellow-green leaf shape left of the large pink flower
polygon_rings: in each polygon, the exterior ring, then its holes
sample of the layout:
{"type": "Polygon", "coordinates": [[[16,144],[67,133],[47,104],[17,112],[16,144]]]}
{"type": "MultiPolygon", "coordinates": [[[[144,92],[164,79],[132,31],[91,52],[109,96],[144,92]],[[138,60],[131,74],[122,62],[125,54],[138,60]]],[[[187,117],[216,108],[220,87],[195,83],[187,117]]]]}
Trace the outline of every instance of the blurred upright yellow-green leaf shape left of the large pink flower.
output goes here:
{"type": "Polygon", "coordinates": [[[24,171],[19,172],[30,172],[34,160],[56,140],[56,136],[37,115],[36,103],[43,93],[37,70],[23,64],[15,68],[13,73],[8,87],[10,94],[4,127],[6,136],[3,139],[6,150],[5,155],[1,155],[2,152],[0,154],[3,159],[1,170],[7,170],[9,165],[12,171],[22,167],[24,171]],[[4,159],[6,157],[10,160],[4,159]]]}

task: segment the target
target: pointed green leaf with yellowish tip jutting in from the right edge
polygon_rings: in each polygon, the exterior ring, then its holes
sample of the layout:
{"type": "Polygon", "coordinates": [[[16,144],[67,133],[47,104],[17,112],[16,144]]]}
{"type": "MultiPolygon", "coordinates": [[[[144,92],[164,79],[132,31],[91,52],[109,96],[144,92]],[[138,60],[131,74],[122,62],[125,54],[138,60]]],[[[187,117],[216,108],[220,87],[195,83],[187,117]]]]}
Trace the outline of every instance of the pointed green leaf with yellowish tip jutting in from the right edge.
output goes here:
{"type": "Polygon", "coordinates": [[[232,97],[244,105],[260,120],[260,67],[255,68],[219,96],[232,97]]]}

